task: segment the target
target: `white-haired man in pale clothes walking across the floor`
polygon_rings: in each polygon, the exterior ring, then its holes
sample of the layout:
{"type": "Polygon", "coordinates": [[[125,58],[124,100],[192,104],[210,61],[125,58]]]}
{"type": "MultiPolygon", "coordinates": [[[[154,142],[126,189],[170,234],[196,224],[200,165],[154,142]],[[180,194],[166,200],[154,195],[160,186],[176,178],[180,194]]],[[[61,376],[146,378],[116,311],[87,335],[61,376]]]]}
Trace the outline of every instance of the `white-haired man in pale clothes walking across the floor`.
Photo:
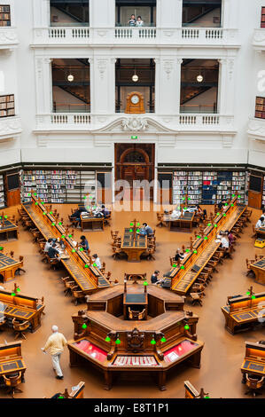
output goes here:
{"type": "Polygon", "coordinates": [[[64,334],[58,333],[58,327],[52,326],[51,327],[52,334],[48,338],[45,346],[42,348],[43,352],[46,353],[46,350],[49,350],[49,353],[51,354],[51,361],[54,371],[56,372],[56,378],[58,380],[64,379],[59,359],[61,357],[61,354],[64,351],[64,347],[66,346],[66,338],[64,334]]]}

